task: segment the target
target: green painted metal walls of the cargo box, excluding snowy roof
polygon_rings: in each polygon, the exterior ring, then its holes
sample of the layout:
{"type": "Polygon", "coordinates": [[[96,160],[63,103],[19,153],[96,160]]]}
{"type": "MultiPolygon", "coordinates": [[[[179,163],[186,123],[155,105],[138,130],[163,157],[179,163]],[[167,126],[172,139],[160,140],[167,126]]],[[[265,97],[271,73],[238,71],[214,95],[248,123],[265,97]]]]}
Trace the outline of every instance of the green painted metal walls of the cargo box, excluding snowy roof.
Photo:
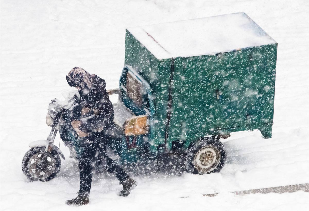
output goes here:
{"type": "MultiPolygon", "coordinates": [[[[151,151],[162,144],[170,150],[175,140],[184,140],[188,147],[202,136],[243,130],[259,129],[264,138],[270,138],[276,60],[277,44],[158,60],[126,30],[125,65],[148,82],[153,100],[153,107],[147,108],[152,119],[151,151]]],[[[123,77],[120,85],[125,87],[123,77]]],[[[128,100],[125,90],[122,97],[128,100]]],[[[126,106],[134,112],[134,105],[126,106]]]]}

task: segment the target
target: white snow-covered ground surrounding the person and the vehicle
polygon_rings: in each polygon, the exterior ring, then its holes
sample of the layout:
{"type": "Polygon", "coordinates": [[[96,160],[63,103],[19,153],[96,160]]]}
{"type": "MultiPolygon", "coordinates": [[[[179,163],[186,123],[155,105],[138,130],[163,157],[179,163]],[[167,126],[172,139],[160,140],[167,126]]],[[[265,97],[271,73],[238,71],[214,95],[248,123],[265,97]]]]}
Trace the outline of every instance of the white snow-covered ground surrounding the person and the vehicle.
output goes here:
{"type": "MultiPolygon", "coordinates": [[[[116,99],[113,99],[116,101],[116,99]]],[[[56,137],[59,140],[59,136],[56,137]]],[[[56,141],[57,142],[57,141],[56,141]]],[[[308,183],[308,2],[293,1],[1,1],[2,210],[308,210],[308,192],[236,196],[230,191],[308,183]],[[51,99],[72,90],[65,75],[75,66],[118,87],[125,28],[245,12],[278,42],[273,137],[233,133],[219,173],[132,175],[127,197],[111,175],[94,176],[90,204],[76,196],[77,162],[68,158],[57,178],[29,182],[21,171],[28,143],[44,139],[51,99]],[[215,197],[202,194],[221,192],[215,197]]]]}

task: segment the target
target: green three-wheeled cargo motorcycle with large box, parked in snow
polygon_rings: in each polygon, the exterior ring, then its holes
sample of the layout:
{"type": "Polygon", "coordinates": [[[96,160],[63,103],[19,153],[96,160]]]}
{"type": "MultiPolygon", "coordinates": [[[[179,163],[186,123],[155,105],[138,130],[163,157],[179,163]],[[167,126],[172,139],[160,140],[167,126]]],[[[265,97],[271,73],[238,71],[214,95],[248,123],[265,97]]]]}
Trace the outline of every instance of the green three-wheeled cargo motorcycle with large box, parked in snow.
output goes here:
{"type": "MultiPolygon", "coordinates": [[[[271,138],[276,59],[276,41],[243,12],[126,29],[119,88],[108,91],[118,94],[109,147],[123,165],[155,160],[158,169],[181,162],[194,174],[219,172],[226,159],[220,138],[253,129],[271,138]]],[[[29,179],[60,171],[58,131],[76,157],[72,96],[49,104],[52,131],[30,143],[23,159],[29,179]]]]}

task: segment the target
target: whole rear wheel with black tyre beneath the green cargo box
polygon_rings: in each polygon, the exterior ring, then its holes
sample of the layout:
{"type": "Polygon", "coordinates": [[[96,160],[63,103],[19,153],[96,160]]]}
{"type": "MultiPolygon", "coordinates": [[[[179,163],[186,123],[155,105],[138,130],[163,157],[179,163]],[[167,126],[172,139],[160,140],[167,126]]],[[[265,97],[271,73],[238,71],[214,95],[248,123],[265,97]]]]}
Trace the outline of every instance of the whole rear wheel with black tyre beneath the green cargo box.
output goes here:
{"type": "Polygon", "coordinates": [[[223,144],[215,138],[202,138],[188,149],[186,168],[193,174],[219,172],[225,163],[226,153],[223,144]]]}

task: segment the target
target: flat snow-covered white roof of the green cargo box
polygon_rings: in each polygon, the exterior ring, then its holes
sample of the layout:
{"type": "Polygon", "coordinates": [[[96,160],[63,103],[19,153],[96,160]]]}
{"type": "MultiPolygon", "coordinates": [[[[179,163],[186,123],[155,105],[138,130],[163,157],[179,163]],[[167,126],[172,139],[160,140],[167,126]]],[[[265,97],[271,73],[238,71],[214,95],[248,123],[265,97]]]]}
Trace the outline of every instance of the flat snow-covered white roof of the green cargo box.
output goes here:
{"type": "Polygon", "coordinates": [[[244,12],[127,30],[157,59],[223,53],[276,43],[244,12]]]}

